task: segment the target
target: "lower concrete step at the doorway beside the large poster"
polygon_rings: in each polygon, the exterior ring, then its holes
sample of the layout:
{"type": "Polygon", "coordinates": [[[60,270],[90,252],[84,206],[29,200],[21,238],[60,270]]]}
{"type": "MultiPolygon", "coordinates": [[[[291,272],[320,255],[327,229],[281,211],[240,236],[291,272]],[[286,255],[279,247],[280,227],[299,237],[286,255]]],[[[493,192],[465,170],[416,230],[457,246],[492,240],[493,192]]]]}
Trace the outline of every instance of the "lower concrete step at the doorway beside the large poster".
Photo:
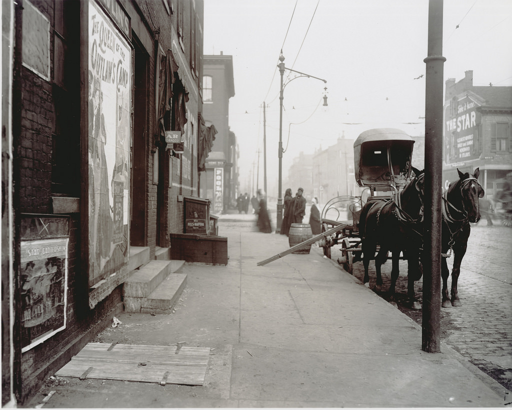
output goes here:
{"type": "Polygon", "coordinates": [[[147,298],[142,299],[140,313],[173,313],[173,307],[186,284],[186,274],[170,274],[147,298]]]}

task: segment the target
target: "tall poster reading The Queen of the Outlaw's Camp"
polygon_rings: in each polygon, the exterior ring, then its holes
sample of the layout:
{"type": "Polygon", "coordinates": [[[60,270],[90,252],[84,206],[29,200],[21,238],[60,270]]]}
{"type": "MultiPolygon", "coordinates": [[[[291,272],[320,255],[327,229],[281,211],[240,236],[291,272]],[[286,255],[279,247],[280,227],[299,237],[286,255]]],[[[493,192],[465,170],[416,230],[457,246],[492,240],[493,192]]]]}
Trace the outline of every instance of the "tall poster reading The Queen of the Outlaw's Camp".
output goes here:
{"type": "MultiPolygon", "coordinates": [[[[88,9],[89,286],[93,287],[128,261],[132,49],[94,1],[88,9]]],[[[90,306],[111,290],[96,294],[90,306]]]]}

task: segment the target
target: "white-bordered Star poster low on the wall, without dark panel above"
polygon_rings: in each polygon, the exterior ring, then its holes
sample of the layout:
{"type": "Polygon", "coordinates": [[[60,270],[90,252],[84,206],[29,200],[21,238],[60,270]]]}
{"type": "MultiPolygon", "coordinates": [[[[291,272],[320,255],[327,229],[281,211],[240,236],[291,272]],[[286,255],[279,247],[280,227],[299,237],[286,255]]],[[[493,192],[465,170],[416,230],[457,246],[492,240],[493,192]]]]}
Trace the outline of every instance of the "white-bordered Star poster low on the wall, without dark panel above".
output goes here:
{"type": "Polygon", "coordinates": [[[66,328],[68,242],[21,242],[22,352],[66,328]]]}

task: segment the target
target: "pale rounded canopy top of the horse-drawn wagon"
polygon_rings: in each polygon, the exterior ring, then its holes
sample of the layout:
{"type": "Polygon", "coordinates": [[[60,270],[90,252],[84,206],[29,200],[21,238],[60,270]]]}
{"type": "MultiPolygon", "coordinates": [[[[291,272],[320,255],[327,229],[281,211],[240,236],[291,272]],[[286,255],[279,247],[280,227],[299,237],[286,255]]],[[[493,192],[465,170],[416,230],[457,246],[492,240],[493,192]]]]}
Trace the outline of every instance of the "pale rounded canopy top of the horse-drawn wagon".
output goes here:
{"type": "Polygon", "coordinates": [[[396,128],[362,132],[354,142],[354,170],[360,187],[403,187],[411,176],[414,140],[396,128]]]}

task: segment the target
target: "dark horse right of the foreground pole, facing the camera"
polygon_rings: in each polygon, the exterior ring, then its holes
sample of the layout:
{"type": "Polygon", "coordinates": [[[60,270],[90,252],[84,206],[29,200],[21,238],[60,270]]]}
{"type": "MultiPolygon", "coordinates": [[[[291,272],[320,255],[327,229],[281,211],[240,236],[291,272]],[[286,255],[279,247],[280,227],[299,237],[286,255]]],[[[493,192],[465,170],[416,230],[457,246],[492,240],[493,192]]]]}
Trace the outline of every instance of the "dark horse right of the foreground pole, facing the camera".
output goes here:
{"type": "Polygon", "coordinates": [[[473,175],[469,172],[462,173],[457,169],[459,179],[451,183],[448,190],[443,193],[441,204],[441,277],[443,280],[441,306],[449,308],[460,306],[457,292],[457,284],[460,275],[460,264],[466,253],[467,240],[470,237],[470,222],[477,223],[480,220],[479,198],[484,196],[484,190],[478,183],[480,169],[477,168],[473,175]],[[448,294],[448,277],[450,270],[446,258],[454,254],[452,269],[451,298],[448,294]]]}

